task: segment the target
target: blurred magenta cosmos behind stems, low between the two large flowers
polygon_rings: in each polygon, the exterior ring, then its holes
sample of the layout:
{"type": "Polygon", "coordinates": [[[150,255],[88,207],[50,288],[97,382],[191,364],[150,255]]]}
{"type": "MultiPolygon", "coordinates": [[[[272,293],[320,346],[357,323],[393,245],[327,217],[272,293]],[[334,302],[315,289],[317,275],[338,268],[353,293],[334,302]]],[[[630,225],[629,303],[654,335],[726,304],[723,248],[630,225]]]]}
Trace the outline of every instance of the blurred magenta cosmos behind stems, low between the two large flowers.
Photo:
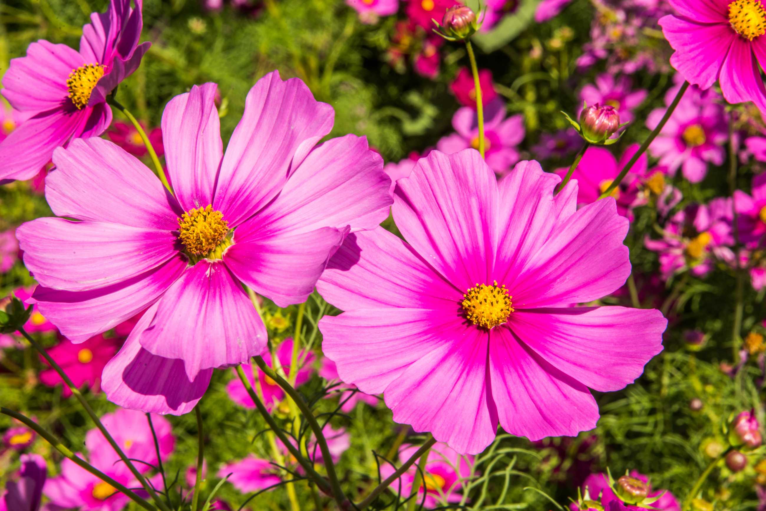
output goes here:
{"type": "MultiPolygon", "coordinates": [[[[277,349],[277,357],[280,359],[280,364],[286,373],[290,372],[290,362],[292,356],[293,339],[288,338],[283,340],[283,342],[280,344],[280,347],[277,349]]],[[[303,360],[303,365],[300,366],[300,369],[296,373],[296,387],[308,382],[311,378],[311,375],[313,375],[314,370],[311,367],[313,359],[313,353],[309,352],[307,354],[306,350],[303,349],[300,351],[298,360],[303,360]]],[[[273,367],[273,361],[271,359],[270,352],[264,353],[264,360],[268,365],[273,367]]],[[[250,380],[250,385],[253,385],[253,388],[256,388],[255,378],[253,376],[253,366],[251,364],[244,364],[242,365],[242,369],[244,370],[244,374],[247,376],[247,379],[250,380]]],[[[232,369],[232,371],[234,371],[234,369],[232,369]]],[[[284,399],[285,393],[282,388],[277,385],[277,382],[274,382],[273,379],[269,378],[266,373],[260,369],[258,369],[258,382],[260,383],[260,390],[264,395],[264,405],[266,405],[266,408],[271,411],[273,407],[279,405],[280,402],[284,399]]],[[[234,372],[234,378],[231,380],[231,382],[228,382],[226,385],[226,391],[228,392],[231,401],[234,401],[237,403],[237,405],[244,406],[244,408],[255,408],[255,403],[252,399],[250,399],[250,395],[247,393],[247,389],[244,388],[244,385],[242,384],[240,378],[237,377],[236,372],[234,372]]]]}

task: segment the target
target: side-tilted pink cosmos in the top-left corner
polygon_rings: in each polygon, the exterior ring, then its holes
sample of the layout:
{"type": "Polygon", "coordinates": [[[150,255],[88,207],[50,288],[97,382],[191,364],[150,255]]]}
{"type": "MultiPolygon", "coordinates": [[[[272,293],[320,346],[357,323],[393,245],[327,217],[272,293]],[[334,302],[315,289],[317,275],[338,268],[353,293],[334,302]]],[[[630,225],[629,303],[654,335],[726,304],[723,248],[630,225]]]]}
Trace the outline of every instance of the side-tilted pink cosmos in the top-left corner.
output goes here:
{"type": "Polygon", "coordinates": [[[30,179],[71,139],[98,136],[112,122],[106,96],[139,67],[151,43],[138,44],[142,0],[112,0],[109,10],[90,15],[80,51],[37,41],[27,56],[11,61],[2,95],[28,116],[0,142],[0,181],[30,179]]]}

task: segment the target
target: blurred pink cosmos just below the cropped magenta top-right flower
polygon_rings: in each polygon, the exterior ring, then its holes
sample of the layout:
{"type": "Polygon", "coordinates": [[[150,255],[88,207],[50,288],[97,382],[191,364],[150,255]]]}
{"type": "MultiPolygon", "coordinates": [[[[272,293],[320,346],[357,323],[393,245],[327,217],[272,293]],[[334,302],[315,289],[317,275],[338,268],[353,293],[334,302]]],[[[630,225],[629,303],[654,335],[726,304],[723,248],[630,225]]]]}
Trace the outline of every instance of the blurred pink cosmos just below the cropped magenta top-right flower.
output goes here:
{"type": "MultiPolygon", "coordinates": [[[[647,117],[647,127],[654,129],[665,115],[665,108],[657,108],[647,117]]],[[[681,169],[692,183],[705,179],[708,162],[722,165],[725,159],[723,145],[728,139],[728,128],[721,105],[709,101],[698,104],[681,100],[660,135],[649,146],[652,156],[660,159],[669,175],[681,169]]]]}

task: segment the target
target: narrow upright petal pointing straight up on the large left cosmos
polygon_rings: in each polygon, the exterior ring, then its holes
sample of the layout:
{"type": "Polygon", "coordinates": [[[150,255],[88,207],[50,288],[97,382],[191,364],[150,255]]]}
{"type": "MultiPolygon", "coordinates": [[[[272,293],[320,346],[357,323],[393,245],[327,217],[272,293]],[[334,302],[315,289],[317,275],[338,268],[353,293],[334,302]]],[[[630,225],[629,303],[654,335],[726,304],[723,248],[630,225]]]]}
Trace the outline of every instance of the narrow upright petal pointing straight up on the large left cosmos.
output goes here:
{"type": "Polygon", "coordinates": [[[215,108],[217,90],[216,84],[195,85],[191,92],[170,100],[162,113],[165,162],[175,196],[185,211],[213,203],[215,177],[224,151],[215,108]]]}

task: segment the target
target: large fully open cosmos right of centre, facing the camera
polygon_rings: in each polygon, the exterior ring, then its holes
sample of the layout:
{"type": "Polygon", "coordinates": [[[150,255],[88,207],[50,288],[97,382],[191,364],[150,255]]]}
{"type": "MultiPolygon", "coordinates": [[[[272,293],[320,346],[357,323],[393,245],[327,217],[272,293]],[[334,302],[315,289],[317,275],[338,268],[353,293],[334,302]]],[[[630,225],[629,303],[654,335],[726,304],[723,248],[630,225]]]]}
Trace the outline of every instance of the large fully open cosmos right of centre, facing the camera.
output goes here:
{"type": "Polygon", "coordinates": [[[317,284],[344,310],[319,323],[342,380],[384,393],[394,421],[475,454],[511,434],[575,435],[598,391],[661,351],[657,310],[571,307],[630,274],[614,198],[577,211],[577,184],[520,162],[501,182],[479,152],[433,151],[397,182],[383,228],[349,237],[317,284]],[[628,340],[630,339],[630,342],[628,340]]]}

